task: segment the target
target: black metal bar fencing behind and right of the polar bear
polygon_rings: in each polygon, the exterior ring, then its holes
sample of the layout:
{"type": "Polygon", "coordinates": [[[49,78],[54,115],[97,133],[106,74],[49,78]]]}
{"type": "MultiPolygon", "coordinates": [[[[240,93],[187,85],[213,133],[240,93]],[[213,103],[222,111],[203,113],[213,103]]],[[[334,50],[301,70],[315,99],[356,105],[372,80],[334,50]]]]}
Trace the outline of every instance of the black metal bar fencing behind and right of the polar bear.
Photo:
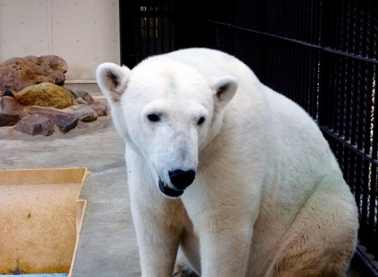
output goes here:
{"type": "Polygon", "coordinates": [[[220,49],[302,106],[359,207],[356,260],[378,276],[378,2],[182,2],[120,1],[122,63],[184,47],[220,49]]]}

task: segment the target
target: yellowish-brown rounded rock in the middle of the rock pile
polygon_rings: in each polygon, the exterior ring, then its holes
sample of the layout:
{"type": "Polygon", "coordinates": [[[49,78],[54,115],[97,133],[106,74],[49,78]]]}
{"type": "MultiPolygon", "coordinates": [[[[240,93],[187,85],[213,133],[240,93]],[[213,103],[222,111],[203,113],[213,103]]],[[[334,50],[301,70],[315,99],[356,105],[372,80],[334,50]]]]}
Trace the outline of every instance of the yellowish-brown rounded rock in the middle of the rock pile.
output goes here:
{"type": "Polygon", "coordinates": [[[51,83],[28,86],[15,93],[15,98],[26,106],[52,106],[65,109],[74,104],[74,97],[68,90],[51,83]]]}

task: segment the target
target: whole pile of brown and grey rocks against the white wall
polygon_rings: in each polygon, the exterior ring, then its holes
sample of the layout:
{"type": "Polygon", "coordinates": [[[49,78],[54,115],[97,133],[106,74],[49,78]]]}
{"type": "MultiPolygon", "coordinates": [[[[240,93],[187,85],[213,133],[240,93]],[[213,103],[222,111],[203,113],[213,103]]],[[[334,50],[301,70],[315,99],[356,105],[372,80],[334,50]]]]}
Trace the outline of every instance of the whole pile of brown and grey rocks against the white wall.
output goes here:
{"type": "Polygon", "coordinates": [[[63,86],[65,72],[67,63],[58,56],[4,61],[0,65],[0,137],[2,127],[31,136],[65,134],[108,116],[106,104],[85,91],[63,86]]]}

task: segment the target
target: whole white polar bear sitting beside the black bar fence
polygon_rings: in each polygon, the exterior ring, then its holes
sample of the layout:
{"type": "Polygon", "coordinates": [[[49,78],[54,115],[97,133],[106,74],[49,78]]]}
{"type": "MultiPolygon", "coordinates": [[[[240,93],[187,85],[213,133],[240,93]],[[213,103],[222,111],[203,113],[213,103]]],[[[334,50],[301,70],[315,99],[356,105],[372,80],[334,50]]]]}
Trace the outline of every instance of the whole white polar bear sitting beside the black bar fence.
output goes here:
{"type": "Polygon", "coordinates": [[[345,276],[356,204],[301,107],[212,49],[104,63],[97,81],[126,142],[142,276],[178,264],[206,277],[345,276]]]}

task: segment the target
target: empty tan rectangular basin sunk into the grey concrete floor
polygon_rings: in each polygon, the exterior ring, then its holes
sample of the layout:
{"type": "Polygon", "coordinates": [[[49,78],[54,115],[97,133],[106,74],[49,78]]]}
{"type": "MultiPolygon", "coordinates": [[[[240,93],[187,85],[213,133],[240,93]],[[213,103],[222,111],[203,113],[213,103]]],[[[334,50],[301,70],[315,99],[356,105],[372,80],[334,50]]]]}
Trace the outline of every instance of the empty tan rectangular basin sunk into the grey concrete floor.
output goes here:
{"type": "Polygon", "coordinates": [[[0,274],[68,273],[86,168],[0,171],[0,274]]]}

